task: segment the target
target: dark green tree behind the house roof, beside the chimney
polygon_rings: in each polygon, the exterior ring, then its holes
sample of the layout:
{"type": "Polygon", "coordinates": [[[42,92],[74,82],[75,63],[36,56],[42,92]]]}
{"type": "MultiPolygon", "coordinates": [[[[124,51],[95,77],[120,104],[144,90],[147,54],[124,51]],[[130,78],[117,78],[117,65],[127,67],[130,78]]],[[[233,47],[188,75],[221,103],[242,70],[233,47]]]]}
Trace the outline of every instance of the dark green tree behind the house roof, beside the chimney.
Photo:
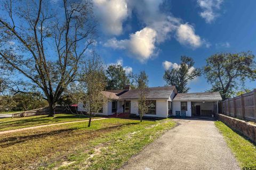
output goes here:
{"type": "Polygon", "coordinates": [[[130,84],[129,77],[125,74],[122,65],[109,65],[106,70],[107,90],[123,89],[124,85],[130,84]]]}

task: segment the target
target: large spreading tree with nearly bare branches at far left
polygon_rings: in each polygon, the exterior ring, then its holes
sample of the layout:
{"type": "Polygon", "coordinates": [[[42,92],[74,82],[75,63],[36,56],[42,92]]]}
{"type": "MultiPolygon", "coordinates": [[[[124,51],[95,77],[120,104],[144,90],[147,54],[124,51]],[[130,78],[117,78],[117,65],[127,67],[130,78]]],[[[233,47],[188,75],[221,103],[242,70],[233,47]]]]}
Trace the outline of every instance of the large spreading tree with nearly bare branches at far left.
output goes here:
{"type": "Polygon", "coordinates": [[[94,42],[92,4],[62,0],[55,10],[49,1],[9,0],[0,6],[0,60],[43,93],[54,116],[55,103],[94,42]]]}

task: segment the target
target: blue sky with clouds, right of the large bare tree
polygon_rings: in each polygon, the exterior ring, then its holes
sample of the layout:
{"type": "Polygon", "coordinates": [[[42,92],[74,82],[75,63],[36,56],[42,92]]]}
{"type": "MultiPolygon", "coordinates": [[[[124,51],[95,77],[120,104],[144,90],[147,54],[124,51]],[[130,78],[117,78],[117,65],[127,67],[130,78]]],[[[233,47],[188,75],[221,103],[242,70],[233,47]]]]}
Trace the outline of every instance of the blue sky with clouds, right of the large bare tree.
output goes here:
{"type": "MultiPolygon", "coordinates": [[[[127,71],[145,70],[149,86],[164,86],[164,70],[180,56],[195,67],[220,52],[256,52],[256,1],[93,0],[99,21],[97,50],[103,60],[127,71]]],[[[204,76],[189,82],[190,92],[211,88],[204,76]]],[[[255,81],[246,82],[255,88],[255,81]]]]}

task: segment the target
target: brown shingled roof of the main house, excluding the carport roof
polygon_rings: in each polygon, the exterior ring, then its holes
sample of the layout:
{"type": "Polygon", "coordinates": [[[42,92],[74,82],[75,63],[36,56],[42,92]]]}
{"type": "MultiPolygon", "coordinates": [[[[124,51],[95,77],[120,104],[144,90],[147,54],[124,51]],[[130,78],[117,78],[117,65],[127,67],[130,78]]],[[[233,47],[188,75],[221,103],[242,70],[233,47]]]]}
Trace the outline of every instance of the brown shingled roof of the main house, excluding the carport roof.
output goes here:
{"type": "MultiPolygon", "coordinates": [[[[150,87],[147,88],[147,98],[148,99],[168,99],[175,89],[175,86],[166,87],[150,87]]],[[[124,94],[119,96],[119,99],[138,99],[139,89],[131,89],[124,94]]]]}

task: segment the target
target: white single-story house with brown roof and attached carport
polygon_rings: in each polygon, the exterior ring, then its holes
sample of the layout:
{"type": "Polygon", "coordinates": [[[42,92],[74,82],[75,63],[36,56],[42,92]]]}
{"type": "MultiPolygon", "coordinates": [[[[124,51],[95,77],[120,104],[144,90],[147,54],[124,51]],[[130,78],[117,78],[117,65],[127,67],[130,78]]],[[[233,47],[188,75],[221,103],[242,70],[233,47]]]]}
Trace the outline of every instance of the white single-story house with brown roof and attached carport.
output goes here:
{"type": "MultiPolygon", "coordinates": [[[[102,94],[110,101],[103,105],[100,115],[139,115],[138,89],[127,85],[123,90],[102,91],[102,94]]],[[[219,92],[178,94],[175,86],[165,86],[147,88],[147,100],[149,111],[145,116],[149,117],[174,116],[176,111],[185,111],[186,116],[212,116],[218,112],[218,101],[222,98],[219,92]]]]}

